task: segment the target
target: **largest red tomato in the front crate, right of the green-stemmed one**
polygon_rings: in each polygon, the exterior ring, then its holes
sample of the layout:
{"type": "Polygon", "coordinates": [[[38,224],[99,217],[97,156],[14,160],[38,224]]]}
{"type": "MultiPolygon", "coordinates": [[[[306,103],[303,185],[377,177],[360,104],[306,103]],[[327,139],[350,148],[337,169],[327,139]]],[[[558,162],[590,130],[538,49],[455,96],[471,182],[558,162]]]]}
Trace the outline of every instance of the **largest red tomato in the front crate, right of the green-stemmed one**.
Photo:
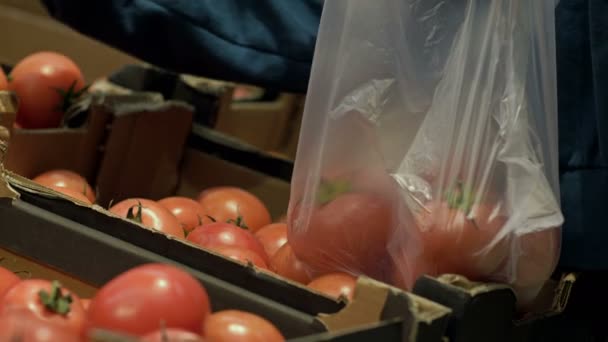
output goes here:
{"type": "Polygon", "coordinates": [[[203,286],[171,265],[146,264],[118,275],[93,297],[91,329],[144,336],[166,328],[201,330],[211,308],[203,286]]]}

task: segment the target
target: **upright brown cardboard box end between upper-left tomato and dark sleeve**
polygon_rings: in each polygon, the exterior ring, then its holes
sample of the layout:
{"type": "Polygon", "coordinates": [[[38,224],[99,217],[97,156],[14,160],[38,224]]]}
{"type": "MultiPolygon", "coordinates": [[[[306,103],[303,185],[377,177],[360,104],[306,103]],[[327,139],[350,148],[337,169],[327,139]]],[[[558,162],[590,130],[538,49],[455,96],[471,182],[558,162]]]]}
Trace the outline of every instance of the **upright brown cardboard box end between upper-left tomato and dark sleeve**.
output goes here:
{"type": "Polygon", "coordinates": [[[115,98],[97,110],[115,116],[97,174],[98,203],[173,194],[192,127],[192,107],[177,101],[115,98]]]}

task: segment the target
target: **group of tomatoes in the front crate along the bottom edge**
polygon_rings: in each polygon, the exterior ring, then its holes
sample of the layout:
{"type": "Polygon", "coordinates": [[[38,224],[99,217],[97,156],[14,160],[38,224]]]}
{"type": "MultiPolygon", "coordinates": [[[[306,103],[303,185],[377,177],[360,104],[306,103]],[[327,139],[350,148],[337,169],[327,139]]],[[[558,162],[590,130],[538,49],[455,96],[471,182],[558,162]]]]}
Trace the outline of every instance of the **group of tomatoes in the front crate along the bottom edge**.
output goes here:
{"type": "Polygon", "coordinates": [[[172,265],[135,267],[91,299],[79,298],[56,281],[21,280],[0,267],[0,341],[89,341],[102,332],[141,342],[285,340],[258,315],[212,313],[205,288],[172,265]]]}

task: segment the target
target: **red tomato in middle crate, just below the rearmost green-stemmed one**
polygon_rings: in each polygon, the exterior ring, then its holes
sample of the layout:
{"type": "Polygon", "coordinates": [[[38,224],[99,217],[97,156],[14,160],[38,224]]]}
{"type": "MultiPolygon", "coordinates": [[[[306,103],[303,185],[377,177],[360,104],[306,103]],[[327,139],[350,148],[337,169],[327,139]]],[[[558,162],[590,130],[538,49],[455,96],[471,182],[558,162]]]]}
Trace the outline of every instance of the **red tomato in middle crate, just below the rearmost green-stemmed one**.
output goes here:
{"type": "Polygon", "coordinates": [[[188,234],[188,241],[212,250],[220,246],[245,248],[257,253],[264,261],[268,260],[264,247],[251,232],[228,223],[215,222],[195,228],[188,234]]]}

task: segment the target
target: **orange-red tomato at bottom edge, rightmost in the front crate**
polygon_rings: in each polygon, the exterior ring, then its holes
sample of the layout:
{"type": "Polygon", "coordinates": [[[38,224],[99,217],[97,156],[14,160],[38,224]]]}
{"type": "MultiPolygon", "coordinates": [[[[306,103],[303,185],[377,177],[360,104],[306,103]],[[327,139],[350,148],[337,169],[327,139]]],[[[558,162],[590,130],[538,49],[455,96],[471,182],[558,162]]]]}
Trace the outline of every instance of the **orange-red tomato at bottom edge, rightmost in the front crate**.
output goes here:
{"type": "Polygon", "coordinates": [[[266,319],[249,312],[225,310],[209,316],[203,336],[209,342],[280,342],[279,330],[266,319]]]}

